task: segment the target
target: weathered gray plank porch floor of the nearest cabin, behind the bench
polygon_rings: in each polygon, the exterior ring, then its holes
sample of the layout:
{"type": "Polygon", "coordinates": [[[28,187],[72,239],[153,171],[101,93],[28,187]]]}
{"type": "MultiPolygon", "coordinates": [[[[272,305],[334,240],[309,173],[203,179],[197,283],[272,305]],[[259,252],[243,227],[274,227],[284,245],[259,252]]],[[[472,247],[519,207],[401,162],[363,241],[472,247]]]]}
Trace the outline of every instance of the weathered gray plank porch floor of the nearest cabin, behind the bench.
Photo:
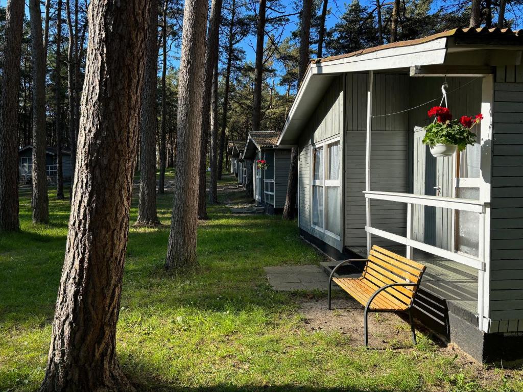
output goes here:
{"type": "MultiPolygon", "coordinates": [[[[406,253],[405,246],[385,248],[402,256],[406,253]]],[[[367,247],[348,250],[367,257],[367,247]]],[[[414,249],[413,260],[427,267],[420,289],[445,300],[453,314],[477,325],[477,270],[418,249],[414,249]]]]}

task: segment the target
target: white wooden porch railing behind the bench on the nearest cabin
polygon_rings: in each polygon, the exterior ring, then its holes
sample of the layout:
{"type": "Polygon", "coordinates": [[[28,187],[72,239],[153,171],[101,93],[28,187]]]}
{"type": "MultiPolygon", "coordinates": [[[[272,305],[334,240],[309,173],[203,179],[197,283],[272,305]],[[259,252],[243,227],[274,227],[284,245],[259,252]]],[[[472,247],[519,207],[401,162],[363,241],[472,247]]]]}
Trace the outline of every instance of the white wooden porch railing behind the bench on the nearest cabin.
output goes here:
{"type": "Polygon", "coordinates": [[[372,227],[370,218],[371,214],[367,216],[367,225],[365,230],[368,234],[374,234],[382,238],[390,239],[396,243],[406,246],[407,258],[412,258],[413,248],[423,250],[433,255],[456,261],[465,266],[473,267],[478,271],[477,284],[477,314],[479,318],[479,328],[484,330],[483,315],[484,315],[484,282],[486,271],[485,252],[485,231],[487,230],[486,222],[490,221],[490,203],[485,203],[479,200],[444,198],[438,196],[426,196],[411,193],[395,193],[395,192],[381,192],[381,191],[363,191],[367,202],[370,200],[388,200],[407,204],[407,232],[406,237],[394,233],[386,232],[385,230],[372,227]],[[479,214],[479,246],[478,256],[467,255],[465,253],[452,252],[450,250],[441,249],[433,245],[428,245],[413,239],[413,208],[414,204],[426,205],[432,207],[440,207],[451,210],[470,211],[479,214]]]}

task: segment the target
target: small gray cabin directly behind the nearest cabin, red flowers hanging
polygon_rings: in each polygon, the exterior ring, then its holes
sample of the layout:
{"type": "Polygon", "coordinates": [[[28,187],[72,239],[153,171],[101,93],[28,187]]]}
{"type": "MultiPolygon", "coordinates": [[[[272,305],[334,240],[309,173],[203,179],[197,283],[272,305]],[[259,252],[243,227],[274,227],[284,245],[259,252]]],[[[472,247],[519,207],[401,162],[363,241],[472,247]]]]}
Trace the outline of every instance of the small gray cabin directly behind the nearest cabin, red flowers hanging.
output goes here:
{"type": "MultiPolygon", "coordinates": [[[[253,196],[269,214],[283,211],[287,197],[287,183],[291,163],[291,147],[277,146],[279,132],[249,132],[243,152],[244,159],[253,159],[253,196]],[[266,169],[257,167],[265,160],[266,169]]],[[[247,174],[249,175],[249,174],[247,174]]]]}

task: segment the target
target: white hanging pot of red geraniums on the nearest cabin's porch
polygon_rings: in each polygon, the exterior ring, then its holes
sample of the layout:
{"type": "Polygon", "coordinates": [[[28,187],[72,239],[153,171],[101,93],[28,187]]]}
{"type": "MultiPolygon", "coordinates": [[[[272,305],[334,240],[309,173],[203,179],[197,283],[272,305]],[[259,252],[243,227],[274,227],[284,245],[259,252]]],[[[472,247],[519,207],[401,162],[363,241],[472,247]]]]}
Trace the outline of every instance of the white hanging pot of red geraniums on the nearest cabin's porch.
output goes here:
{"type": "Polygon", "coordinates": [[[452,120],[450,110],[440,106],[431,108],[428,116],[435,119],[425,126],[423,144],[430,146],[430,153],[435,157],[452,156],[456,150],[463,151],[468,145],[473,145],[476,135],[471,129],[483,119],[482,114],[477,114],[452,120]]]}

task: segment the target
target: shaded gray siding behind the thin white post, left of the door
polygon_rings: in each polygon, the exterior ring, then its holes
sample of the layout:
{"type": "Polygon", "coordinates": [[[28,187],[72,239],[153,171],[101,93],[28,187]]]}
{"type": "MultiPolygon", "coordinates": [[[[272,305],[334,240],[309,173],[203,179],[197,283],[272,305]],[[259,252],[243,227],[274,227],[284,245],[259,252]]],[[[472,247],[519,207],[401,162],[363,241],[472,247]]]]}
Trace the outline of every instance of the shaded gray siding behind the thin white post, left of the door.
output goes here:
{"type": "MultiPolygon", "coordinates": [[[[365,246],[365,145],[367,74],[348,74],[345,100],[345,246],[365,246]]],[[[374,116],[402,111],[408,105],[408,76],[374,75],[374,116]]],[[[406,192],[408,179],[407,113],[372,119],[371,190],[406,192]]],[[[406,206],[381,200],[371,202],[373,227],[404,236],[406,206]]],[[[373,244],[392,245],[373,236],[373,244]]]]}

